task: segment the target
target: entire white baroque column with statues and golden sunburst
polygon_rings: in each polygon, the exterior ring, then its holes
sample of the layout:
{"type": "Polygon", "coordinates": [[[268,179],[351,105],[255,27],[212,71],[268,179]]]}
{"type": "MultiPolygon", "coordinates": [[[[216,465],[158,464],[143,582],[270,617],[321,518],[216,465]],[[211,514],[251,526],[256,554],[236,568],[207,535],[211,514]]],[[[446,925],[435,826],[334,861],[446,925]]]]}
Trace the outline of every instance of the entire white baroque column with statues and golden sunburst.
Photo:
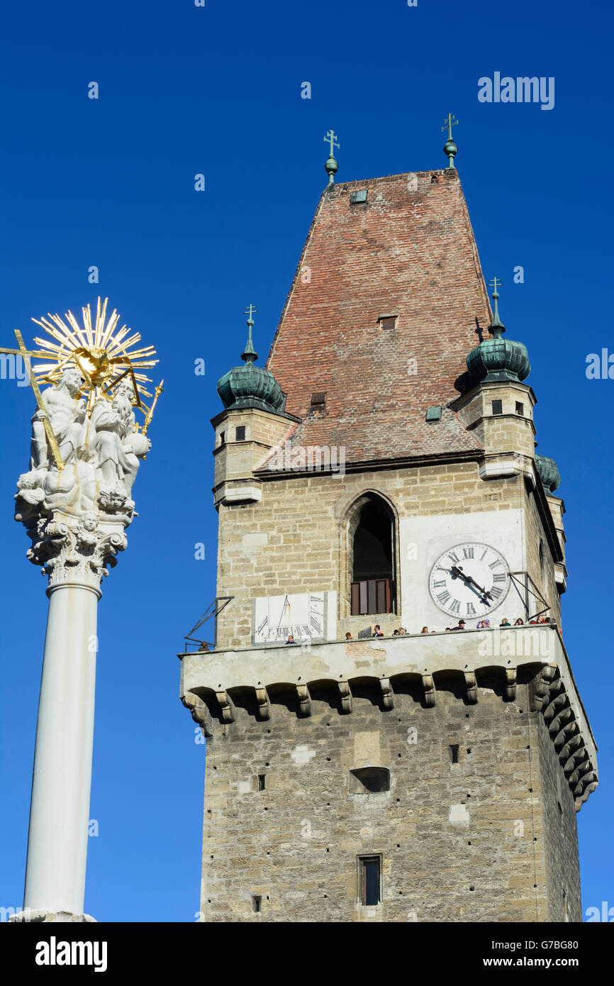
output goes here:
{"type": "MultiPolygon", "coordinates": [[[[90,337],[84,337],[92,345],[76,348],[72,365],[64,359],[50,374],[45,367],[44,379],[51,386],[42,394],[35,380],[37,368],[30,372],[37,409],[30,469],[17,484],[15,519],[32,539],[28,557],[48,579],[49,604],[24,911],[16,916],[21,921],[95,920],[84,914],[84,896],[98,601],[102,578],[127,544],[125,528],[134,517],[132,485],[139,460],[150,449],[146,432],[162,392],[161,384],[151,407],[143,404],[147,378],[137,377],[133,368],[153,366],[154,351],[143,351],[147,360],[140,363],[121,353],[112,335],[115,313],[104,325],[105,304],[101,308],[99,299],[95,329],[89,308],[84,310],[90,326],[90,337]],[[102,345],[95,345],[97,338],[102,345]],[[109,353],[118,351],[120,357],[111,362],[109,353]],[[145,414],[141,431],[135,420],[137,407],[145,414]]],[[[55,326],[61,323],[58,316],[53,321],[55,326]]]]}

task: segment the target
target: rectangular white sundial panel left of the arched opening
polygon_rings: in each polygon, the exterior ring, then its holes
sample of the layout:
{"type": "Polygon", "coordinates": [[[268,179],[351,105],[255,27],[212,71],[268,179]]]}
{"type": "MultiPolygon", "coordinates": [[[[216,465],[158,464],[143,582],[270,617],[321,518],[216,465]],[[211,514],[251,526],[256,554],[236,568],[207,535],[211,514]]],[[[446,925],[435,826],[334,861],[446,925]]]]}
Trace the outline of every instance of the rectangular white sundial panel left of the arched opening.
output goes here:
{"type": "Polygon", "coordinates": [[[325,640],[327,593],[264,596],[253,602],[253,643],[325,640]]]}

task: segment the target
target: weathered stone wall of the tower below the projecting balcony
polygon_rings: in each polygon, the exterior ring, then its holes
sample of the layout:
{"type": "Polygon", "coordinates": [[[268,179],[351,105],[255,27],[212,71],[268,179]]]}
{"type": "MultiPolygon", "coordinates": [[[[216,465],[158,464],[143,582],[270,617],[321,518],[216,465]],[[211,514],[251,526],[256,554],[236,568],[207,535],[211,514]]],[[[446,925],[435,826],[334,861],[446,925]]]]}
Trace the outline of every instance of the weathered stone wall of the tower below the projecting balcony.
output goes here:
{"type": "Polygon", "coordinates": [[[540,714],[526,685],[507,702],[488,683],[494,690],[480,687],[467,705],[440,679],[426,708],[417,686],[395,678],[389,711],[378,690],[354,683],[348,714],[332,690],[310,685],[305,718],[296,689],[271,689],[268,721],[235,695],[236,722],[216,723],[208,740],[204,920],[546,921],[559,919],[562,884],[579,920],[575,817],[563,790],[570,836],[557,855],[560,767],[547,734],[537,750],[540,714]],[[350,771],[364,766],[389,769],[389,792],[350,793],[350,771]],[[361,854],[381,855],[377,907],[358,902],[361,854]]]}

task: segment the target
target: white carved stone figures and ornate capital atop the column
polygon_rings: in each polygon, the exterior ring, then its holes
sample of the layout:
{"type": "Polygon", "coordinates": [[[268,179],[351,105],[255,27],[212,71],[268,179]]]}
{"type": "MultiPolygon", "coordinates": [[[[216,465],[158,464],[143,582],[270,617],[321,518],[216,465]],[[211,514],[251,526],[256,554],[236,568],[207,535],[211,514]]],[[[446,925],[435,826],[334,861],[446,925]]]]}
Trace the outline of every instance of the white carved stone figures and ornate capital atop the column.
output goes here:
{"type": "Polygon", "coordinates": [[[125,543],[122,531],[134,515],[131,494],[139,459],[151,448],[137,428],[130,380],[120,381],[112,398],[101,395],[89,419],[86,402],[79,397],[81,387],[78,371],[66,369],[57,384],[43,391],[64,467],[57,467],[44,415],[36,410],[31,467],[20,476],[15,496],[16,520],[26,525],[34,542],[29,556],[52,582],[59,579],[60,569],[63,578],[66,571],[75,575],[71,558],[82,579],[100,582],[109,558],[114,560],[125,543]],[[99,541],[101,550],[95,550],[93,544],[99,541]],[[61,566],[56,564],[59,557],[61,566]]]}

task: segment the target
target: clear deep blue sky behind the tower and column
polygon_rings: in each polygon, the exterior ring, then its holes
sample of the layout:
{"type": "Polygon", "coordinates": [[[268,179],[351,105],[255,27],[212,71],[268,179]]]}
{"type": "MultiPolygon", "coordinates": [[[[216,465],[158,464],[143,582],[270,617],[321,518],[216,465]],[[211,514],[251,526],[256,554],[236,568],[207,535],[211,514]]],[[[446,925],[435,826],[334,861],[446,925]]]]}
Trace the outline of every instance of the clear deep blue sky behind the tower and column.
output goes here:
{"type": "MultiPolygon", "coordinates": [[[[177,697],[175,654],[215,595],[209,419],[244,343],[243,308],[259,306],[263,362],[325,182],[329,127],[340,179],[421,171],[445,165],[448,110],[485,273],[503,278],[502,317],[528,346],[539,452],[561,470],[565,640],[600,748],[601,786],[580,812],[583,908],[614,905],[614,381],[584,373],[588,353],[614,351],[612,21],[606,0],[34,0],[5,11],[0,345],[14,328],[31,342],[31,317],[79,313],[100,292],[156,344],[165,378],[139,517],[99,607],[100,835],[86,891],[99,920],[198,910],[204,747],[177,697]],[[554,77],[554,108],[479,103],[478,79],[496,71],[554,77]]],[[[45,580],[12,520],[32,411],[27,388],[0,381],[2,906],[22,902],[46,618],[45,580]]]]}

